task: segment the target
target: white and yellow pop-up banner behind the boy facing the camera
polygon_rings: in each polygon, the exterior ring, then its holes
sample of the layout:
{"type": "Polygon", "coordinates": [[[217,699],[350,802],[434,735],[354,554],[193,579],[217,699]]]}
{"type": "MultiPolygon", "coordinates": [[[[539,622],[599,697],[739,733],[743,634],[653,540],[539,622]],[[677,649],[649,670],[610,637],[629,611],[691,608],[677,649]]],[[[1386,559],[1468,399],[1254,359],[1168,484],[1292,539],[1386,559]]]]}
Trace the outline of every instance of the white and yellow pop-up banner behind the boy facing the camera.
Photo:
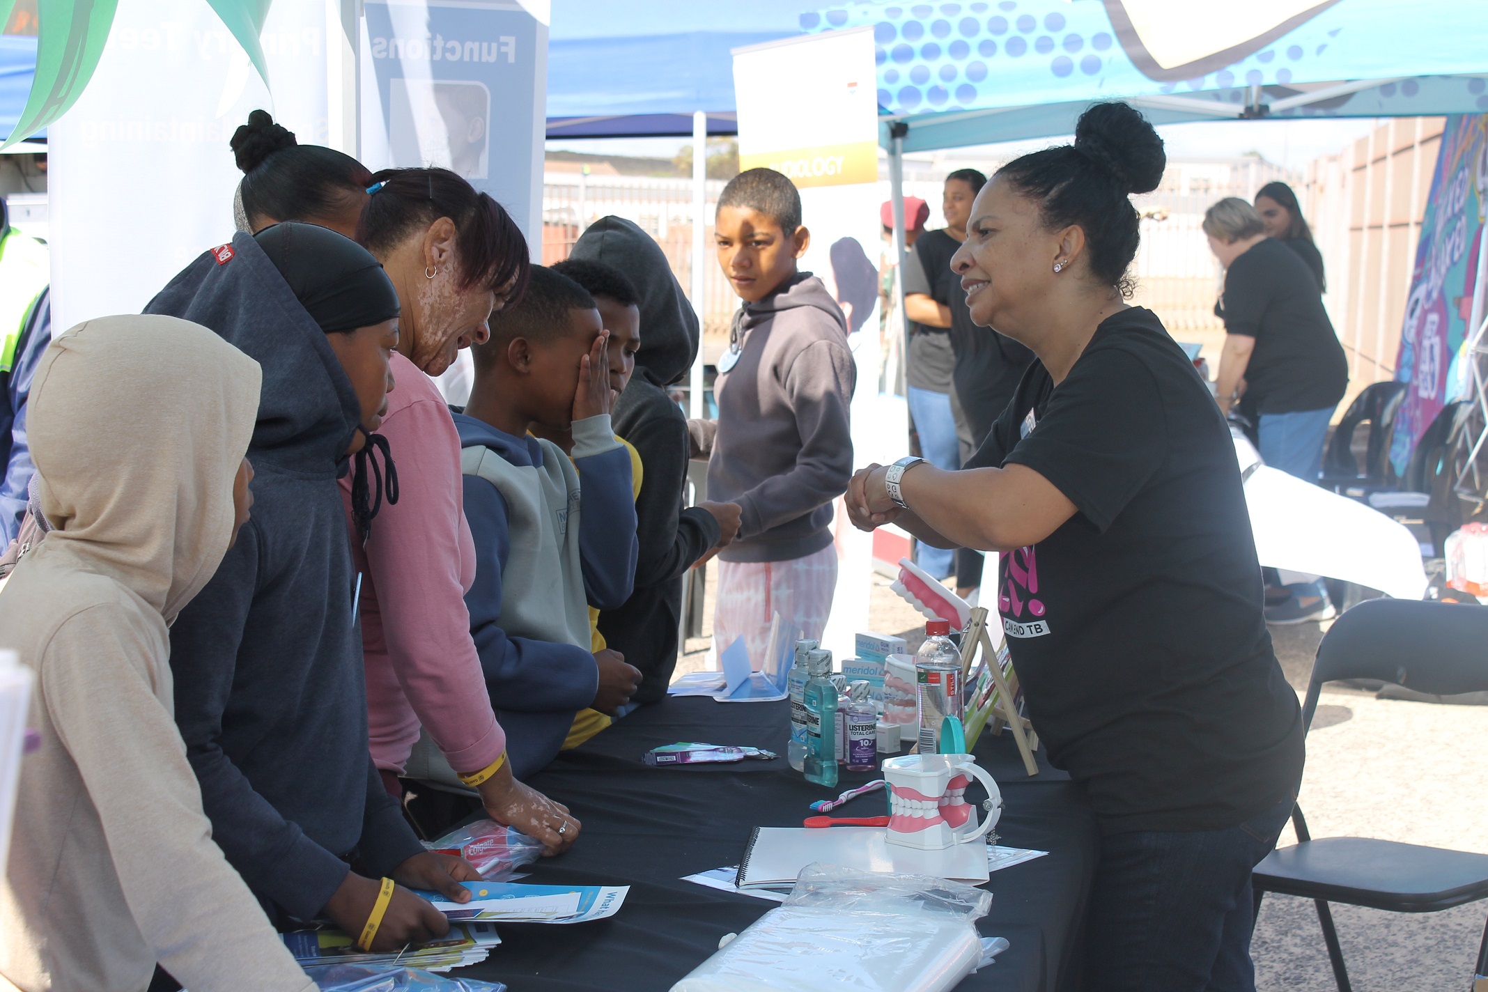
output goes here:
{"type": "MultiPolygon", "coordinates": [[[[847,317],[857,361],[853,461],[893,461],[908,437],[903,400],[878,396],[878,97],[872,28],[734,49],[740,168],[784,173],[801,190],[811,247],[801,268],[826,283],[847,317]]],[[[838,501],[838,584],[821,645],[839,657],[869,629],[872,537],[838,501]]]]}

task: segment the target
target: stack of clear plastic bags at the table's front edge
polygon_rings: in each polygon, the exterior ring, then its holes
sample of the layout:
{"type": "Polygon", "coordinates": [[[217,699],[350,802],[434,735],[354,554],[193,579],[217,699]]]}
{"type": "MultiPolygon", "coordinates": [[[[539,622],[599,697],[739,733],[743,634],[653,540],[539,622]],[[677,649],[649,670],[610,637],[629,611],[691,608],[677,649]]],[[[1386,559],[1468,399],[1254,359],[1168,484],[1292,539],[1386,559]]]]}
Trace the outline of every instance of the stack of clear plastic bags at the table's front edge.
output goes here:
{"type": "Polygon", "coordinates": [[[982,964],[975,922],[991,903],[960,882],[809,864],[671,992],[945,992],[982,964]]]}

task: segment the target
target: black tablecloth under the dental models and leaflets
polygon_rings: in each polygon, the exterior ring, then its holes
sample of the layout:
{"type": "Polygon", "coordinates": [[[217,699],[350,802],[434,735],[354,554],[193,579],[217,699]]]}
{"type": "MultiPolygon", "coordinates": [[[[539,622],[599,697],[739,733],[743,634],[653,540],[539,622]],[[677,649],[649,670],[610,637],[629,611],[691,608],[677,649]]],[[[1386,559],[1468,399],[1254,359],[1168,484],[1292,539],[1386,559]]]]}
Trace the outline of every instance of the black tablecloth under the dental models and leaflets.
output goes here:
{"type": "MultiPolygon", "coordinates": [[[[682,876],[738,864],[753,827],[799,827],[811,802],[878,778],[845,772],[832,791],[806,782],[784,757],[787,723],[784,702],[670,698],[561,754],[531,785],[565,803],[583,822],[583,836],[565,855],[533,866],[527,880],[629,885],[625,906],[589,924],[503,924],[504,943],[457,974],[506,982],[513,992],[671,988],[717,949],[723,934],[743,931],[775,906],[682,876]],[[647,750],[677,741],[754,745],[781,757],[670,769],[641,761],[647,750]]],[[[982,735],[976,757],[1003,791],[1000,843],[1049,855],[992,873],[992,909],[978,928],[1012,946],[958,989],[1077,988],[1094,819],[1062,772],[1042,764],[1040,775],[1024,775],[1010,733],[982,735]]],[[[882,815],[882,805],[881,793],[863,796],[833,815],[882,815]]]]}

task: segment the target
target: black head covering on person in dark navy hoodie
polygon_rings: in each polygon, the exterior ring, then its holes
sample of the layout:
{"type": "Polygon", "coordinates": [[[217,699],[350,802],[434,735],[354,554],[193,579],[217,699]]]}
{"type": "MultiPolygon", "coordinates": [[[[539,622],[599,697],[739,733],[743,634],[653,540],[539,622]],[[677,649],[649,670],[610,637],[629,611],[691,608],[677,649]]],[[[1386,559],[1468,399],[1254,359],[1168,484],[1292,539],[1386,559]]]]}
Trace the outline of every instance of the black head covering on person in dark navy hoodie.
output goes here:
{"type": "Polygon", "coordinates": [[[397,317],[393,280],[351,238],[320,225],[286,222],[265,228],[253,239],[327,335],[397,317]]]}

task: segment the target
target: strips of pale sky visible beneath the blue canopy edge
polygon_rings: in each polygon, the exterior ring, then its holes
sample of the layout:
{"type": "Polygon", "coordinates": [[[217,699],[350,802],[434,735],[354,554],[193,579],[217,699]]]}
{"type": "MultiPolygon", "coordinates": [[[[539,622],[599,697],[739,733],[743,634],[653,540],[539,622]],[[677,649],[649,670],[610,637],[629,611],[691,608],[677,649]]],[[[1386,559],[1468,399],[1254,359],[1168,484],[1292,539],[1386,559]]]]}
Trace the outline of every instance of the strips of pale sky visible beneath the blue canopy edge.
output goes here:
{"type": "MultiPolygon", "coordinates": [[[[1259,152],[1268,162],[1302,168],[1315,158],[1336,155],[1384,123],[1375,117],[1335,120],[1199,120],[1158,128],[1173,159],[1228,159],[1259,152]]],[[[1064,144],[1070,135],[1034,138],[1000,146],[979,146],[958,152],[957,158],[1003,159],[1019,150],[1064,144]]],[[[634,155],[673,158],[690,138],[607,138],[592,141],[549,141],[549,149],[595,155],[634,155]]]]}

